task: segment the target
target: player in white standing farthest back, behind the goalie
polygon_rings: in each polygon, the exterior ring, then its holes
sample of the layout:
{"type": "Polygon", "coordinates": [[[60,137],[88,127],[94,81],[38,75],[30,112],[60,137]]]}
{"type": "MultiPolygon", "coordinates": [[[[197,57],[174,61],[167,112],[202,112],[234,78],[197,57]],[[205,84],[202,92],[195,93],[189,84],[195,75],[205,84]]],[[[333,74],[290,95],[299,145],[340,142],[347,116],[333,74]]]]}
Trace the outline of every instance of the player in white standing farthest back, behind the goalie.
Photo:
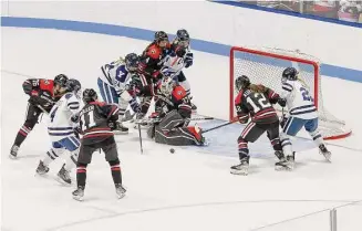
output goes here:
{"type": "MultiPolygon", "coordinates": [[[[185,29],[177,31],[176,38],[172,42],[170,49],[163,62],[161,72],[165,76],[173,77],[177,84],[184,87],[187,95],[190,95],[190,85],[183,69],[188,69],[193,65],[194,54],[190,51],[189,34],[185,29]]],[[[195,105],[193,105],[193,109],[196,109],[195,105]]]]}

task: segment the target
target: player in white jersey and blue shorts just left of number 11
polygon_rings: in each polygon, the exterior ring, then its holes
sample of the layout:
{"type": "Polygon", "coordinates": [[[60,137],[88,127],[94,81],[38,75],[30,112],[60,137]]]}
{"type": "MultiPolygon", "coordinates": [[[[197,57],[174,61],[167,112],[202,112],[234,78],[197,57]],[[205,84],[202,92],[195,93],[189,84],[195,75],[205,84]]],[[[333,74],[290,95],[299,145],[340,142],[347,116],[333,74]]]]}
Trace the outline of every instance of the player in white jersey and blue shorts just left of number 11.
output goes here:
{"type": "Polygon", "coordinates": [[[48,133],[52,141],[52,148],[46,151],[40,160],[37,174],[44,175],[49,171],[49,165],[66,150],[70,155],[65,158],[65,164],[58,172],[58,177],[68,185],[71,185],[70,171],[76,166],[80,140],[74,133],[76,124],[72,117],[80,111],[81,83],[76,80],[69,80],[65,86],[66,93],[56,102],[50,112],[50,124],[48,133]]]}

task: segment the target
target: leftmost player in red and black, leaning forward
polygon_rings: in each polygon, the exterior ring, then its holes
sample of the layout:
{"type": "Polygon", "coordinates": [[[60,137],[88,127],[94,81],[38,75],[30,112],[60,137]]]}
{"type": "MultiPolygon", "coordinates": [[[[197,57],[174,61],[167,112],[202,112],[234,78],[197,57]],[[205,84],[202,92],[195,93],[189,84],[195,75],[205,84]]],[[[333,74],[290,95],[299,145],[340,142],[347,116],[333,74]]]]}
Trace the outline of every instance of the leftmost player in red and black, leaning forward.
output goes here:
{"type": "Polygon", "coordinates": [[[25,140],[29,133],[38,123],[42,113],[49,113],[54,103],[61,97],[64,91],[68,77],[59,74],[53,80],[29,78],[23,82],[22,87],[27,95],[30,96],[27,108],[25,122],[18,132],[17,138],[10,150],[10,158],[18,156],[20,145],[25,140]]]}

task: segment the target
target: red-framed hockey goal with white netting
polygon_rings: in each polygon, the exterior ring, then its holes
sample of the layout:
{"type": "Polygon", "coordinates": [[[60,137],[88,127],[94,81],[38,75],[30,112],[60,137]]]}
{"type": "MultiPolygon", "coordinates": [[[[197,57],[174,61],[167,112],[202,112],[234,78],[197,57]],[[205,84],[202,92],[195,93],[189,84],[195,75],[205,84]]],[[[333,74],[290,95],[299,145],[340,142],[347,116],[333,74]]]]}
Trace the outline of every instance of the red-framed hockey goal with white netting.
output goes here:
{"type": "MultiPolygon", "coordinates": [[[[320,61],[299,51],[279,49],[231,48],[230,50],[230,116],[235,119],[234,99],[237,91],[235,78],[247,75],[252,83],[263,84],[276,92],[281,91],[281,74],[288,66],[299,71],[299,77],[309,86],[319,113],[319,125],[324,139],[344,138],[351,134],[345,123],[330,114],[323,106],[320,61]]],[[[277,108],[281,109],[281,108],[277,108]]]]}

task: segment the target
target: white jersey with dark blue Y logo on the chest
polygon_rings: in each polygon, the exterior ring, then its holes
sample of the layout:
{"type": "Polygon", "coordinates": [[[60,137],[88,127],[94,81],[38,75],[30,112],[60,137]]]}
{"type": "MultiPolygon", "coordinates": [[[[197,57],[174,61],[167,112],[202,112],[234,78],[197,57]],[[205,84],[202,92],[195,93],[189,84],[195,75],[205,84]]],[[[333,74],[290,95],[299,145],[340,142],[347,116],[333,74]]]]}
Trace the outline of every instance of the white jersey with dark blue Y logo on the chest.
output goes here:
{"type": "Polygon", "coordinates": [[[126,84],[128,84],[132,78],[132,74],[126,69],[124,60],[120,59],[110,64],[105,64],[101,70],[102,74],[100,78],[113,86],[117,95],[121,95],[125,91],[126,84]]]}

